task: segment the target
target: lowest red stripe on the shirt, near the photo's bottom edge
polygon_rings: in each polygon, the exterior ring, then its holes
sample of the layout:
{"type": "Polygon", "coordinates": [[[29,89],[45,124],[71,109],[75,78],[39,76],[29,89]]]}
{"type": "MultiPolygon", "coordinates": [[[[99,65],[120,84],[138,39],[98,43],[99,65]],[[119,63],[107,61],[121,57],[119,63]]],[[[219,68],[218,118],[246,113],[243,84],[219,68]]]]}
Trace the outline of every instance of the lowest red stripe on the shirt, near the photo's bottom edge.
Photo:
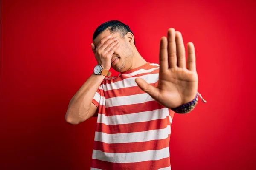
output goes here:
{"type": "Polygon", "coordinates": [[[103,170],[157,170],[170,166],[170,157],[157,161],[143,161],[136,163],[111,163],[92,159],[92,167],[103,170]]]}

